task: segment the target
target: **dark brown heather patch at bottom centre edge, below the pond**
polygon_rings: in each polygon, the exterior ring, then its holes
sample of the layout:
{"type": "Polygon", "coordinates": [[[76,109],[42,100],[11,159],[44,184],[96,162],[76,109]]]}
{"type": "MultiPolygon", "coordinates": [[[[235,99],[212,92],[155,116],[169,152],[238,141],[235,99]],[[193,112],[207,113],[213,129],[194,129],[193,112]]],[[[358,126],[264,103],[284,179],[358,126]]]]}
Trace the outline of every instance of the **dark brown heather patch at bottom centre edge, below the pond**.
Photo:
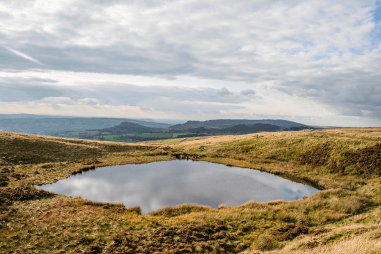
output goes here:
{"type": "Polygon", "coordinates": [[[123,232],[113,237],[106,253],[238,253],[239,242],[226,229],[224,221],[216,221],[211,225],[159,227],[138,235],[123,232]]]}

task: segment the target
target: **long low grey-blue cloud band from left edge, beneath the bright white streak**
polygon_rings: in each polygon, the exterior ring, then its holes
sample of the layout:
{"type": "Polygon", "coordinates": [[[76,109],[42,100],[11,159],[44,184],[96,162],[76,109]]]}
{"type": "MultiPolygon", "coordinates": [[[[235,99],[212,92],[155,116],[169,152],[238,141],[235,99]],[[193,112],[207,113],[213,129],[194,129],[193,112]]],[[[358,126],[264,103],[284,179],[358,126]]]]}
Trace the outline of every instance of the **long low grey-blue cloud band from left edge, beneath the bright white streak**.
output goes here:
{"type": "MultiPolygon", "coordinates": [[[[186,88],[163,85],[132,85],[99,82],[63,86],[51,79],[3,78],[0,79],[0,101],[33,102],[33,105],[49,105],[55,109],[69,106],[138,107],[147,112],[169,114],[221,115],[221,111],[244,108],[238,105],[249,99],[241,98],[226,88],[186,88]],[[229,94],[227,98],[223,95],[229,94]]],[[[31,107],[30,106],[30,107],[31,107]]]]}

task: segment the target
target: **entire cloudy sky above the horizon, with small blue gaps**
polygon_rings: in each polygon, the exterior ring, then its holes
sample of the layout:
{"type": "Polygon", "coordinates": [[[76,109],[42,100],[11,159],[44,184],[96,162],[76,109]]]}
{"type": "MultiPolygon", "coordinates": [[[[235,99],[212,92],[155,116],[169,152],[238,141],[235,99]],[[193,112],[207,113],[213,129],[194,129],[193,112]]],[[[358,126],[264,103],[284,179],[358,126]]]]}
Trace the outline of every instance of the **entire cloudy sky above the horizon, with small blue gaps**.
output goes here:
{"type": "Polygon", "coordinates": [[[381,3],[1,0],[9,113],[381,126],[381,3]]]}

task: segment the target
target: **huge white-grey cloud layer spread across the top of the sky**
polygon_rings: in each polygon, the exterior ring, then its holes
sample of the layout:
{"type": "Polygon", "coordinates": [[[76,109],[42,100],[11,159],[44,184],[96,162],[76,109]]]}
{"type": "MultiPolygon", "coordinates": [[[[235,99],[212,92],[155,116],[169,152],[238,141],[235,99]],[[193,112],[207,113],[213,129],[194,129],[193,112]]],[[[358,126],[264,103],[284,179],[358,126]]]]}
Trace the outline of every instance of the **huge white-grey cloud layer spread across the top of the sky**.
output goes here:
{"type": "Polygon", "coordinates": [[[221,1],[217,9],[212,2],[188,0],[98,4],[45,9],[32,3],[7,20],[12,37],[0,30],[1,37],[56,70],[250,83],[277,78],[322,54],[330,57],[333,45],[344,52],[367,46],[374,27],[371,8],[354,8],[356,1],[333,7],[325,1],[221,1]],[[31,20],[44,29],[21,29],[31,20]]]}

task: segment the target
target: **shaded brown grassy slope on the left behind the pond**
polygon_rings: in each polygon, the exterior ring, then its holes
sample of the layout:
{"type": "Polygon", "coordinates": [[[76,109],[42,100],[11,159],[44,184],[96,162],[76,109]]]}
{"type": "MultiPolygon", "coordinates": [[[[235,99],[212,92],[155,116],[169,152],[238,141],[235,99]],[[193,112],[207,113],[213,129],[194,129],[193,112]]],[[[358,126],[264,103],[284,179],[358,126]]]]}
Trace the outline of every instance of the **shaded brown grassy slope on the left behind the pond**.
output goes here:
{"type": "Polygon", "coordinates": [[[100,142],[0,131],[0,167],[97,158],[145,151],[152,145],[100,142]]]}

